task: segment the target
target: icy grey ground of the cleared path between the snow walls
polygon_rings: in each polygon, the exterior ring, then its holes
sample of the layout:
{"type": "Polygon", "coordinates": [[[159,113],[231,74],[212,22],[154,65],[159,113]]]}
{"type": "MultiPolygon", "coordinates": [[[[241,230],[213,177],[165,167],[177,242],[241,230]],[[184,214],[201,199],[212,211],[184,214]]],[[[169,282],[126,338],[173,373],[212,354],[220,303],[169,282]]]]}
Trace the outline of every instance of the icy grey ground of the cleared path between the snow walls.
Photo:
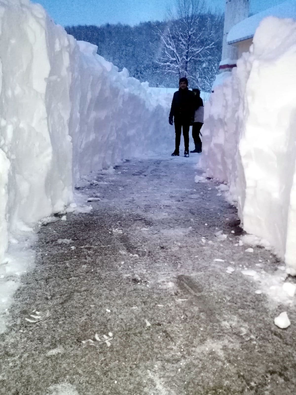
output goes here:
{"type": "Polygon", "coordinates": [[[41,226],[0,335],[1,394],[296,393],[282,263],[240,241],[196,160],[123,162],[80,184],[90,213],[41,226]]]}

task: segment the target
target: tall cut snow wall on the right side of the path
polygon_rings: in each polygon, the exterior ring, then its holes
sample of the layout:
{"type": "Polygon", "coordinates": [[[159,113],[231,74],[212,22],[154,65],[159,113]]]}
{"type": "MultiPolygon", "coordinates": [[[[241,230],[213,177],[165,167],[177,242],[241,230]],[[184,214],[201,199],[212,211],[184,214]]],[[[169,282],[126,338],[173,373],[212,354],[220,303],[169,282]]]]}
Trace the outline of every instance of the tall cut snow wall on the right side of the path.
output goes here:
{"type": "Polygon", "coordinates": [[[268,17],[205,105],[203,166],[296,274],[296,23],[268,17]]]}

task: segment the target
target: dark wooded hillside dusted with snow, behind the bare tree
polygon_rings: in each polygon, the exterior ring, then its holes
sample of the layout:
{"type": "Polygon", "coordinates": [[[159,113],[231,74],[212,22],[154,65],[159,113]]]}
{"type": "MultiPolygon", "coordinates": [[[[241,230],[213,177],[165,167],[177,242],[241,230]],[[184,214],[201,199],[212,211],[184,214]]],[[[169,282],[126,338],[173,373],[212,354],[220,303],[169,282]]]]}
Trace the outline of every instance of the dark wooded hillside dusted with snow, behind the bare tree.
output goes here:
{"type": "MultiPolygon", "coordinates": [[[[131,77],[141,82],[148,81],[150,87],[173,88],[178,86],[178,76],[161,71],[155,62],[161,48],[161,40],[156,28],[165,31],[165,22],[144,22],[136,26],[105,24],[102,26],[66,26],[66,31],[76,40],[97,45],[98,54],[115,64],[119,70],[126,67],[131,77]]],[[[217,45],[206,63],[196,62],[194,67],[200,75],[214,80],[222,52],[223,24],[217,27],[217,45]]],[[[202,85],[202,83],[200,84],[202,85]]],[[[209,83],[207,84],[209,86],[209,83]]],[[[210,88],[202,87],[209,91],[210,88]]]]}

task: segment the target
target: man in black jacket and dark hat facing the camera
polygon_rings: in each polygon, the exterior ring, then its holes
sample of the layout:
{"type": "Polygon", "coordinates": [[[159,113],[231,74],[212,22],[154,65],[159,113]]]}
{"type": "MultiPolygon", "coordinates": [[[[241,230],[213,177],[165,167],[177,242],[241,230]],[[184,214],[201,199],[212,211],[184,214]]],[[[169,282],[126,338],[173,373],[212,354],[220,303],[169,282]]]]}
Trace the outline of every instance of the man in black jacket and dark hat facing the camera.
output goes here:
{"type": "Polygon", "coordinates": [[[191,90],[188,89],[188,80],[183,77],[179,81],[179,90],[174,93],[172,105],[170,107],[169,123],[173,124],[173,117],[175,123],[175,150],[172,156],[179,156],[179,147],[181,140],[181,133],[183,129],[184,136],[184,156],[189,156],[189,126],[193,124],[195,113],[195,96],[191,90]]]}

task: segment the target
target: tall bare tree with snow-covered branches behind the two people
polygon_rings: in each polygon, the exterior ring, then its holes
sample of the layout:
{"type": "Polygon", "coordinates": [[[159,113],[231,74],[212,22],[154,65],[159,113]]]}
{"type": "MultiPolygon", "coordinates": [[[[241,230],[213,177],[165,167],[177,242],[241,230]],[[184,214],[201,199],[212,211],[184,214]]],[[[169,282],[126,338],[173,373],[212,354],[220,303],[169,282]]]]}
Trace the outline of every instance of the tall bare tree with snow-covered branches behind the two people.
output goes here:
{"type": "Polygon", "coordinates": [[[204,0],[176,0],[176,11],[169,11],[167,28],[155,29],[161,40],[158,58],[159,70],[189,77],[199,82],[197,65],[204,65],[214,55],[221,35],[221,16],[206,10],[204,0]]]}

